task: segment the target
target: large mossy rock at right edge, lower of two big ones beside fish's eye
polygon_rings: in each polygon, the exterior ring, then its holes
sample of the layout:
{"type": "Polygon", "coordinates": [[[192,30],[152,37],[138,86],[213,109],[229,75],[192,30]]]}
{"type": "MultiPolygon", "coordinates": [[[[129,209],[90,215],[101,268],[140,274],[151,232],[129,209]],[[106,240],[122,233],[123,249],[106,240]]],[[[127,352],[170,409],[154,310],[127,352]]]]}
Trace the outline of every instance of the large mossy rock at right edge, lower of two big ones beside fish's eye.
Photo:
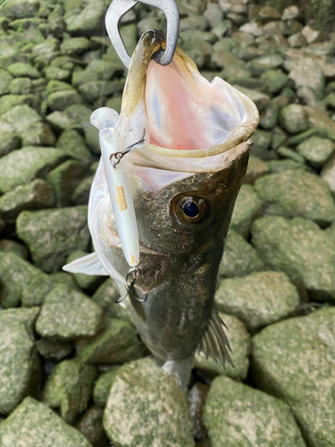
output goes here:
{"type": "Polygon", "coordinates": [[[335,302],[335,240],[316,223],[297,217],[257,219],[252,241],[264,261],[289,275],[312,300],[335,302]]]}

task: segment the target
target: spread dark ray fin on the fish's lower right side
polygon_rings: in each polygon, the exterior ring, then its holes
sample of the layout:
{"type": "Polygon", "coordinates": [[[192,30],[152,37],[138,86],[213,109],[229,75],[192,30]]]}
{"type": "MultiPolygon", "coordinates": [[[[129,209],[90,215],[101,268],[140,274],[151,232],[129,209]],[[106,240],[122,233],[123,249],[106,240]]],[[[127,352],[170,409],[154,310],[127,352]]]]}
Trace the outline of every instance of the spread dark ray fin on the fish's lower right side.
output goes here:
{"type": "Polygon", "coordinates": [[[221,317],[219,316],[216,308],[213,307],[212,316],[209,321],[209,326],[199,343],[197,350],[205,354],[205,358],[212,357],[215,361],[220,361],[222,367],[225,368],[226,361],[233,367],[232,360],[230,358],[230,343],[224,333],[224,325],[221,317]]]}

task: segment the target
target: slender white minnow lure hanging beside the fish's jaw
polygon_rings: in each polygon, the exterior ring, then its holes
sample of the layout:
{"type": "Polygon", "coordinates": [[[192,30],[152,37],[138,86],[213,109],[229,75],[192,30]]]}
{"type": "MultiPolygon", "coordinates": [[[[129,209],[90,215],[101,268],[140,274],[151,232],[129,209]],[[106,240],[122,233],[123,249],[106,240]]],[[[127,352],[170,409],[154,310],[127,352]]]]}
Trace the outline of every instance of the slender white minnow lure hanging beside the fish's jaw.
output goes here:
{"type": "Polygon", "coordinates": [[[111,198],[115,225],[124,257],[130,267],[139,264],[138,225],[130,192],[130,181],[123,163],[113,163],[113,154],[122,152],[120,133],[116,129],[119,114],[109,107],[100,107],[91,114],[91,123],[99,130],[101,156],[111,198]]]}

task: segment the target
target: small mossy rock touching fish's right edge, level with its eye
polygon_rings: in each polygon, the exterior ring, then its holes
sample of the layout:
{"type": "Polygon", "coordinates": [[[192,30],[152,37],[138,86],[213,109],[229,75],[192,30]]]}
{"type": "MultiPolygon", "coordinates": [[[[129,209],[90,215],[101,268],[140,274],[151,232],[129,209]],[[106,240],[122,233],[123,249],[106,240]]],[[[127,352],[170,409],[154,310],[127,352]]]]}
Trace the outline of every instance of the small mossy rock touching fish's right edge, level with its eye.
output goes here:
{"type": "Polygon", "coordinates": [[[256,217],[262,215],[262,200],[257,196],[251,185],[242,185],[235,202],[230,228],[247,238],[251,224],[256,217]]]}

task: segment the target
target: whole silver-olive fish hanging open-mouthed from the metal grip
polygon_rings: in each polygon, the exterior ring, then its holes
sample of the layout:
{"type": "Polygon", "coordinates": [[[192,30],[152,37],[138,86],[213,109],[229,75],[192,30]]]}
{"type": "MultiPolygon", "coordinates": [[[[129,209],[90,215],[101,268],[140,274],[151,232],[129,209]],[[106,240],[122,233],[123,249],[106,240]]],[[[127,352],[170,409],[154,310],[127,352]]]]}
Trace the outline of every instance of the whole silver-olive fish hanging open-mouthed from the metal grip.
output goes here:
{"type": "MultiPolygon", "coordinates": [[[[196,350],[231,363],[214,292],[259,116],[227,82],[205,80],[179,47],[170,65],[155,63],[164,48],[156,31],[140,38],[113,126],[121,147],[133,146],[120,163],[136,215],[140,274],[126,306],[143,342],[184,389],[196,350]]],[[[96,252],[65,269],[109,274],[125,293],[129,264],[105,170],[100,161],[88,205],[96,252]]]]}

